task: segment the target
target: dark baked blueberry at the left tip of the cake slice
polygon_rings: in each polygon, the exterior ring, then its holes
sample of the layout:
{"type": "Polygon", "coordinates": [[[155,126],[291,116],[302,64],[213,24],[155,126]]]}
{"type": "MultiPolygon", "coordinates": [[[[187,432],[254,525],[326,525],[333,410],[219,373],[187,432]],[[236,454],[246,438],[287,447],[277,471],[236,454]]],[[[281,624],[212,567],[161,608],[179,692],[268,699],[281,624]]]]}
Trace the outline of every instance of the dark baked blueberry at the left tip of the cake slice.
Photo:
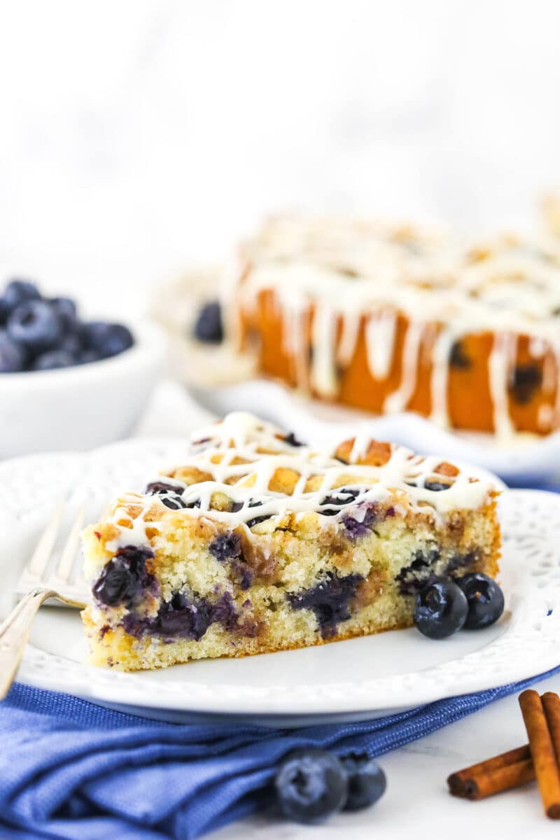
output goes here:
{"type": "Polygon", "coordinates": [[[152,579],[146,572],[146,560],[154,557],[148,548],[128,545],[103,566],[102,573],[93,585],[97,601],[107,606],[130,603],[152,579]]]}

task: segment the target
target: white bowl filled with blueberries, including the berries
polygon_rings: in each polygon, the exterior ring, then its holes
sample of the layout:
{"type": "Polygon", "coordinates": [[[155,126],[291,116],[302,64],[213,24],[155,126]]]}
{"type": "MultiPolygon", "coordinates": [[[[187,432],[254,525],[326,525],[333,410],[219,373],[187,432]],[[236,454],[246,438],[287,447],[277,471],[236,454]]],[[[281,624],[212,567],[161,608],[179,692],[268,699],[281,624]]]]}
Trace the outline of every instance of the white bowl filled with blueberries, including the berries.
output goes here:
{"type": "Polygon", "coordinates": [[[153,324],[90,321],[28,280],[0,290],[0,458],[126,437],[159,378],[153,324]]]}

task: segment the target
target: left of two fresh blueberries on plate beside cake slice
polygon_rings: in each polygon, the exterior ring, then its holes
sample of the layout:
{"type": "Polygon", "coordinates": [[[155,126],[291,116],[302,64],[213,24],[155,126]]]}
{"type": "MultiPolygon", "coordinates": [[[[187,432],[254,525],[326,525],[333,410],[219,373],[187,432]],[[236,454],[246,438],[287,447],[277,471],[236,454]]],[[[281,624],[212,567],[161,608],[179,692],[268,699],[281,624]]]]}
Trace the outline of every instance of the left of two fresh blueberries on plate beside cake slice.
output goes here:
{"type": "Polygon", "coordinates": [[[447,638],[463,627],[468,602],[452,580],[435,580],[418,592],[414,604],[414,623],[428,638],[447,638]]]}

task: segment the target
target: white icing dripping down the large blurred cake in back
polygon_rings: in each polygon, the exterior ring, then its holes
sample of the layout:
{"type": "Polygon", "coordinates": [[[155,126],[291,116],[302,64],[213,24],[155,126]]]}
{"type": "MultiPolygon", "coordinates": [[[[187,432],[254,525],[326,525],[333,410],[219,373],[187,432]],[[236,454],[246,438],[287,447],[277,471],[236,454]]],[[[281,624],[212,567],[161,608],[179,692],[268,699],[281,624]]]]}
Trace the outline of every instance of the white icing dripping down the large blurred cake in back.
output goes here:
{"type": "MultiPolygon", "coordinates": [[[[387,396],[384,411],[406,409],[416,385],[418,354],[435,327],[432,420],[448,423],[454,341],[485,332],[526,335],[535,359],[554,355],[556,365],[548,365],[544,378],[547,392],[557,393],[555,415],[560,417],[560,249],[512,236],[465,248],[437,232],[410,226],[288,216],[272,219],[244,243],[243,255],[249,271],[243,270],[238,283],[239,311],[251,312],[259,291],[274,291],[283,313],[285,346],[298,360],[297,381],[302,386],[308,364],[302,313],[315,309],[311,385],[327,397],[337,396],[337,362],[344,367],[352,360],[362,322],[369,371],[375,380],[387,378],[395,356],[396,317],[402,313],[409,328],[401,379],[387,396]],[[342,333],[337,349],[338,318],[342,333]]],[[[508,344],[508,354],[510,349],[508,344]]],[[[497,401],[496,431],[510,435],[502,352],[505,344],[497,339],[489,362],[490,391],[497,401]]]]}

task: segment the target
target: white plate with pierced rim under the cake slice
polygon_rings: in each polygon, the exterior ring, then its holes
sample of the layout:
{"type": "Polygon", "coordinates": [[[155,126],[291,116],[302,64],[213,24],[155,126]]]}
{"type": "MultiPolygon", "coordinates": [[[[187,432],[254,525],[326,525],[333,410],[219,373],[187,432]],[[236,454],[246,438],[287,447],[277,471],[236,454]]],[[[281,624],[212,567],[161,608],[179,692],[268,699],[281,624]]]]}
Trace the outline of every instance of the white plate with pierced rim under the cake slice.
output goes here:
{"type": "MultiPolygon", "coordinates": [[[[5,526],[0,612],[18,571],[61,496],[97,517],[118,490],[133,489],[180,440],[131,440],[92,454],[47,454],[0,464],[5,526]]],[[[433,642],[416,630],[246,659],[215,659],[139,674],[84,664],[77,612],[44,608],[18,679],[146,717],[185,721],[236,715],[270,725],[364,719],[536,675],[560,663],[560,497],[506,491],[501,501],[506,610],[480,632],[433,642]]]]}

